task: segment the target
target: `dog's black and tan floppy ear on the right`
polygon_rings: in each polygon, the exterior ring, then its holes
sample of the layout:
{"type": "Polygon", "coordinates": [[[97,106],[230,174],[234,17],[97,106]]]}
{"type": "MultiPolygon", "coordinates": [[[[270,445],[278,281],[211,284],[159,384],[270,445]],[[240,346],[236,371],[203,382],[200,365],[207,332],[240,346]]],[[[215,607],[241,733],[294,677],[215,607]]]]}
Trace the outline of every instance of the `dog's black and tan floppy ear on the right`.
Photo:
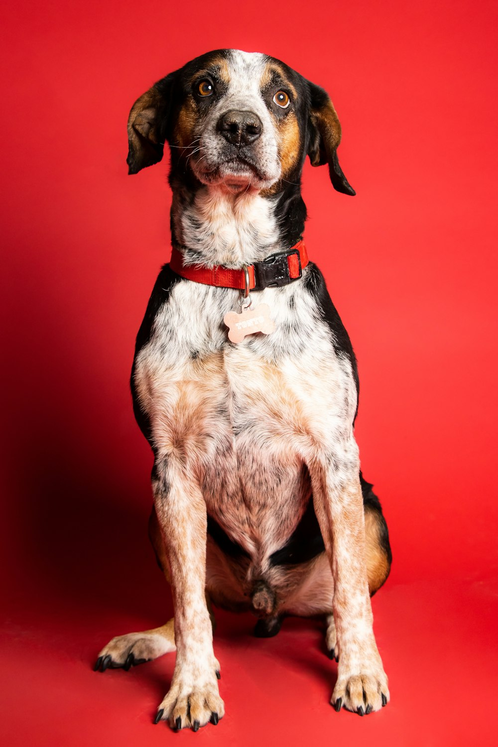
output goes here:
{"type": "Polygon", "coordinates": [[[329,164],[330,180],[334,189],[337,192],[355,195],[355,190],[344,176],[337,161],[340,123],[329,94],[310,81],[308,81],[308,87],[311,94],[308,143],[311,166],[329,164]]]}

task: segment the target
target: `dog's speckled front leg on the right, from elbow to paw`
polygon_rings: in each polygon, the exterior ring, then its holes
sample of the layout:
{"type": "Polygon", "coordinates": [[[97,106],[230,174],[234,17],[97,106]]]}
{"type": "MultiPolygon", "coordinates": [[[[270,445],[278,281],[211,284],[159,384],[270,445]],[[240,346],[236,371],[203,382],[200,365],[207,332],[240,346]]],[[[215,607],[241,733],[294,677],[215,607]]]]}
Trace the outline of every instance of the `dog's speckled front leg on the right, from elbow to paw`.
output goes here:
{"type": "Polygon", "coordinates": [[[365,563],[364,508],[354,441],[346,454],[311,468],[314,506],[334,577],[334,621],[339,663],[332,705],[361,716],[389,699],[387,677],[373,635],[365,563]]]}

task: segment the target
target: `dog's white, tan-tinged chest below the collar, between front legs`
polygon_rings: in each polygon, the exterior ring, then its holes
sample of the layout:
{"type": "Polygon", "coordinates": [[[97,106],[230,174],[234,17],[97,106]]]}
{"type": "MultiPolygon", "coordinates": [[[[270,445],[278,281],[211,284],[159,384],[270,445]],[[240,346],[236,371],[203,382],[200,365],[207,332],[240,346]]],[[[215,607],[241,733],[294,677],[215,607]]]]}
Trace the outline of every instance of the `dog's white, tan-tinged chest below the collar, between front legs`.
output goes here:
{"type": "Polygon", "coordinates": [[[137,356],[135,385],[158,453],[187,465],[232,536],[248,549],[264,537],[271,551],[305,505],[311,451],[337,448],[352,422],[354,382],[303,288],[255,294],[276,329],[231,344],[223,317],[237,297],[175,285],[137,356]]]}

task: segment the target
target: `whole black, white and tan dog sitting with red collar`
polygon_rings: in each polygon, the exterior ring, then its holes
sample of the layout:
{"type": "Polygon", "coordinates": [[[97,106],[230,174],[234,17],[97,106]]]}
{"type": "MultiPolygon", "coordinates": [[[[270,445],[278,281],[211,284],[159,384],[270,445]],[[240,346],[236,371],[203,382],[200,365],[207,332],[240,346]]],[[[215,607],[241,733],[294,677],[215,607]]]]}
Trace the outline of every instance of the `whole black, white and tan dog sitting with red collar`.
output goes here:
{"type": "Polygon", "coordinates": [[[95,669],[176,651],[155,716],[176,730],[225,712],[212,605],[252,611],[256,636],[285,616],[323,616],[335,710],[364,716],[389,700],[370,596],[391,552],[353,433],[355,354],[302,240],[306,157],[355,194],[340,135],[325,90],[238,50],[196,58],[131,108],[129,173],[171,152],[172,259],[137,335],[131,391],[175,616],[113,638],[95,669]]]}

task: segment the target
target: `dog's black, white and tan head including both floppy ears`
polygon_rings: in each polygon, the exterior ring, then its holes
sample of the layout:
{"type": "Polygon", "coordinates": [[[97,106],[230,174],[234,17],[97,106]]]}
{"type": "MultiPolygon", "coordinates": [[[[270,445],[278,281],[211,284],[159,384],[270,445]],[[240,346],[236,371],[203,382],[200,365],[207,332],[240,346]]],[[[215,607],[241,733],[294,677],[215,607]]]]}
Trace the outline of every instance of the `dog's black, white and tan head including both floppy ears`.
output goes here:
{"type": "Polygon", "coordinates": [[[231,190],[278,190],[306,155],[329,164],[334,188],[354,195],[337,161],[340,123],[328,94],[258,52],[208,52],[166,75],[134,103],[128,167],[136,174],[172,149],[172,173],[231,190]]]}

